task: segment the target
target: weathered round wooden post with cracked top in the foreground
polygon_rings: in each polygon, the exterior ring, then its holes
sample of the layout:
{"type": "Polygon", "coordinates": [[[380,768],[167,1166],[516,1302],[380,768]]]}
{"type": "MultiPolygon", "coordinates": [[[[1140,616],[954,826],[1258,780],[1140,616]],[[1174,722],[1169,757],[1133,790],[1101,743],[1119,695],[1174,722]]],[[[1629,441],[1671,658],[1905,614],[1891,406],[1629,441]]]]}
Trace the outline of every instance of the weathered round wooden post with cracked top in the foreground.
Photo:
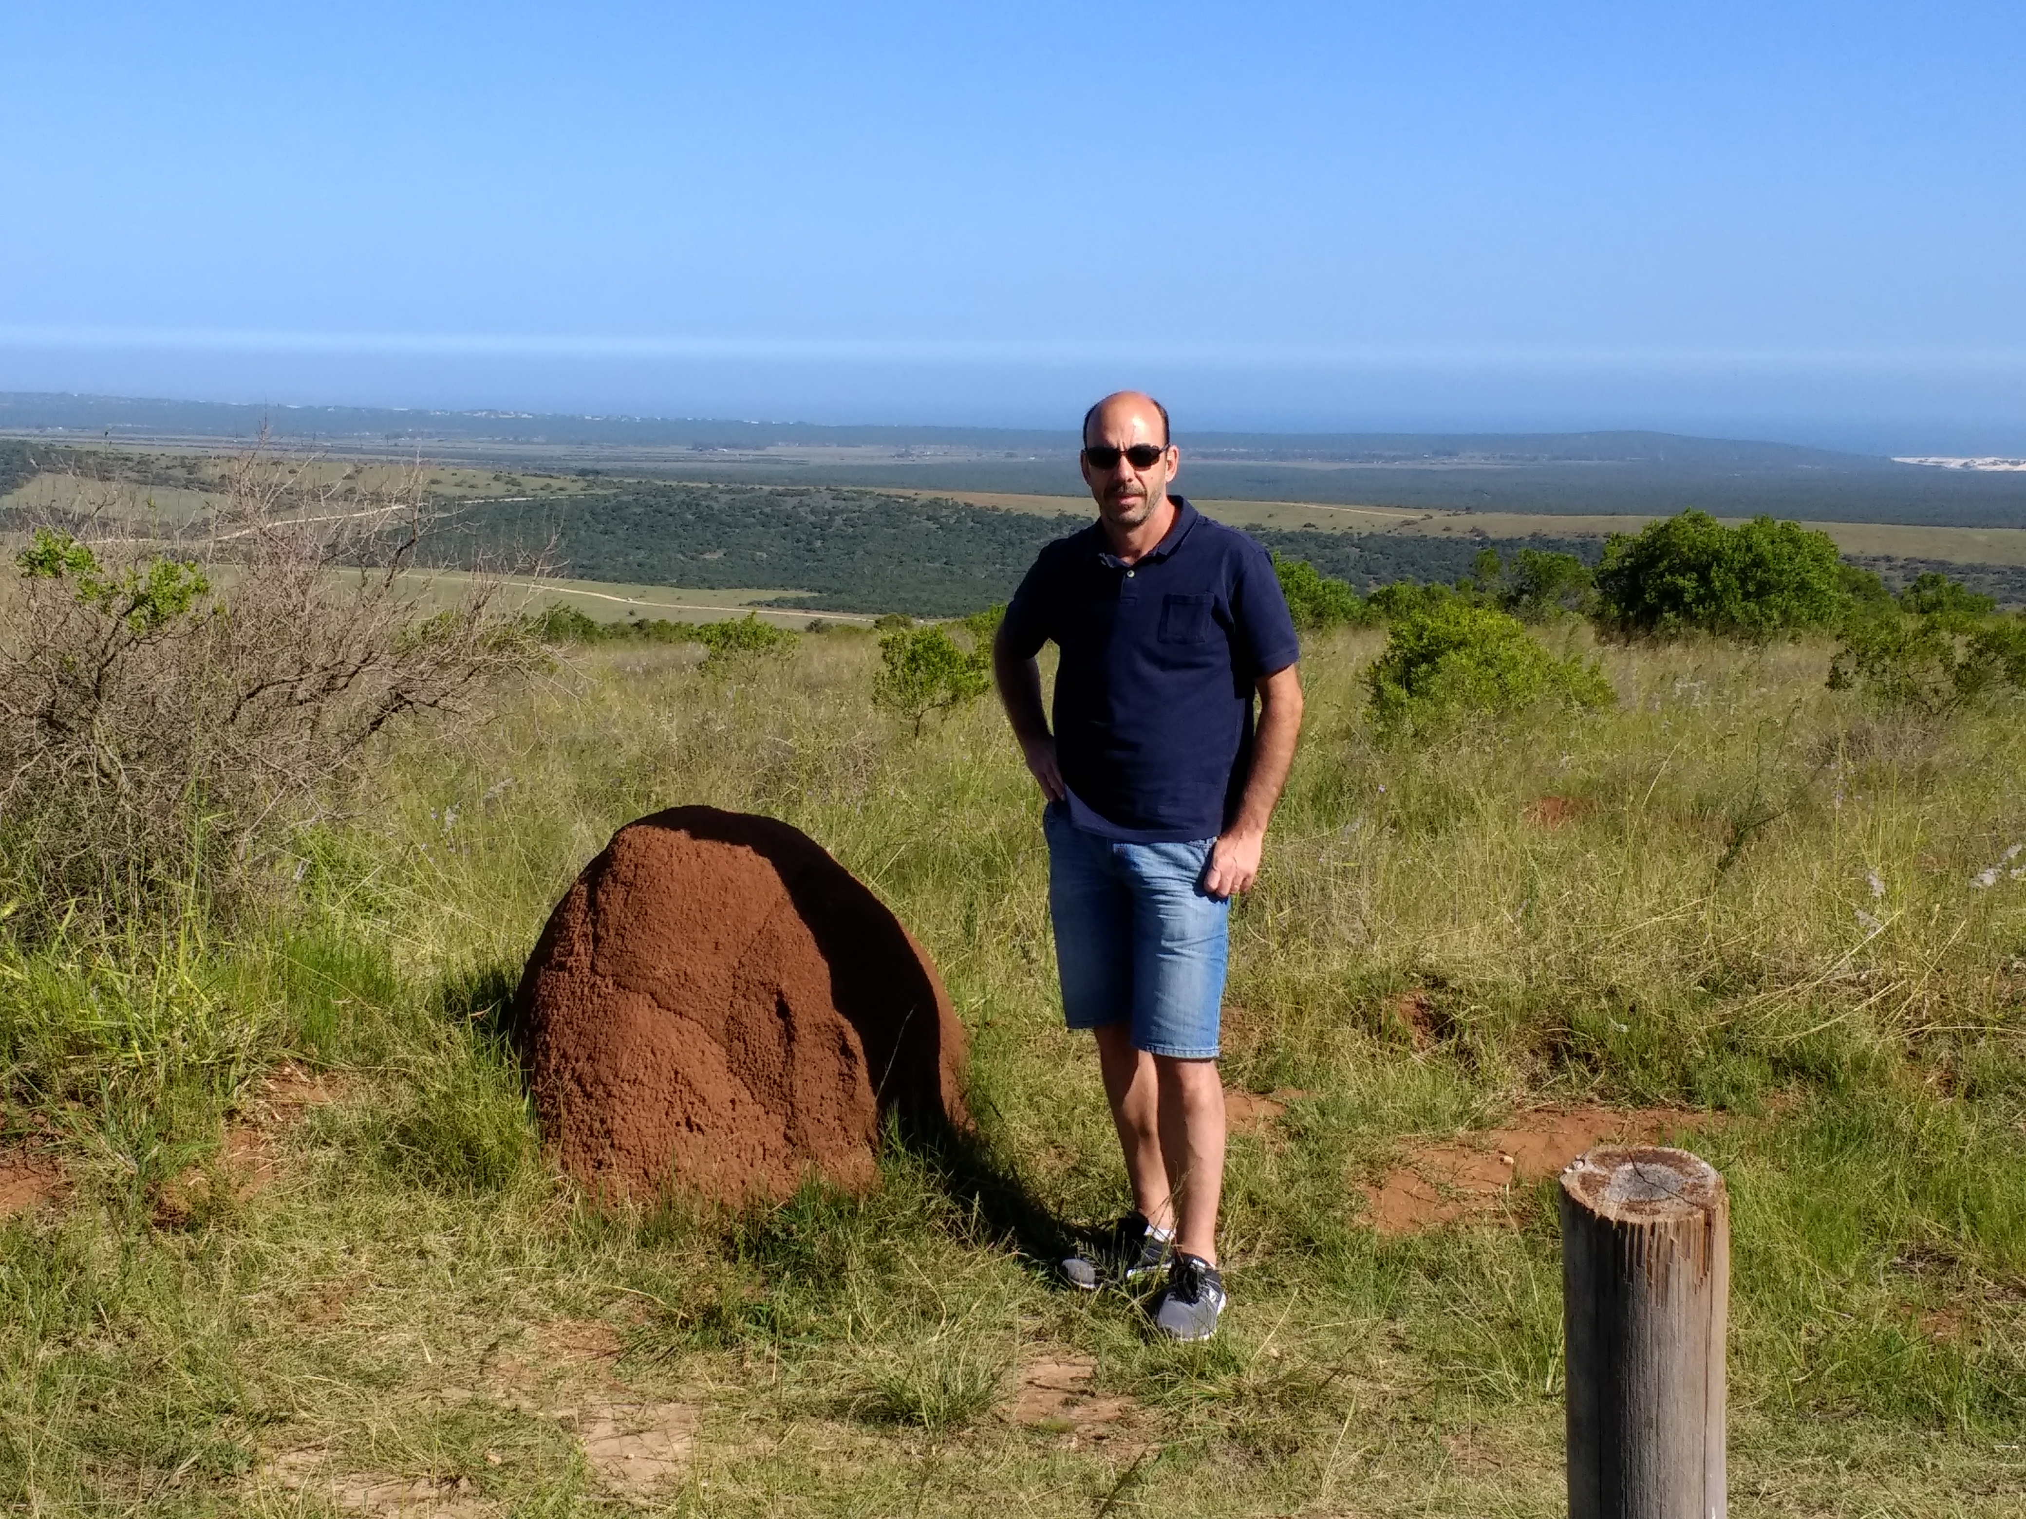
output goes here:
{"type": "Polygon", "coordinates": [[[1570,1519],[1724,1519],[1730,1199],[1688,1150],[1562,1173],[1570,1519]]]}

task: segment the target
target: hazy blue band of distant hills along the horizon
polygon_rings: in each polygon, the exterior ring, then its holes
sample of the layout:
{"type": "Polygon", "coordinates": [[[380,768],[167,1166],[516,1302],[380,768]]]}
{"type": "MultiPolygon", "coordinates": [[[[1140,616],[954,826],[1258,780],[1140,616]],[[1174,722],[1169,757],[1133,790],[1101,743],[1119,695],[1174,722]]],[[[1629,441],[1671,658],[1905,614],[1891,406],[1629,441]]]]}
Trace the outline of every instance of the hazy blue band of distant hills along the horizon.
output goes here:
{"type": "MultiPolygon", "coordinates": [[[[0,395],[0,433],[81,448],[286,442],[525,470],[721,484],[1080,496],[1076,433],[995,427],[829,427],[498,411],[249,407],[93,395],[0,395]]],[[[1795,444],[1590,433],[1177,431],[1181,488],[1207,500],[1313,500],[1408,510],[1667,514],[2026,527],[2026,472],[1898,464],[1795,444]]]]}

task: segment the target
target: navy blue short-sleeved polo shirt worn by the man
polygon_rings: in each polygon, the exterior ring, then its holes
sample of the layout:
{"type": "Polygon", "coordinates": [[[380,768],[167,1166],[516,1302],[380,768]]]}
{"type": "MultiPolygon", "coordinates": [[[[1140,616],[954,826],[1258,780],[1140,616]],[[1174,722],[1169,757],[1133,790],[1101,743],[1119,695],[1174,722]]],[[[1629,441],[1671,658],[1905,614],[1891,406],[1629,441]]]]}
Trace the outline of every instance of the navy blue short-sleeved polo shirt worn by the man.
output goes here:
{"type": "Polygon", "coordinates": [[[1019,658],[1062,652],[1072,820],[1147,845],[1224,832],[1252,770],[1254,683],[1301,654],[1266,551],[1173,502],[1175,525],[1131,567],[1102,523],[1041,549],[1001,632],[1019,658]]]}

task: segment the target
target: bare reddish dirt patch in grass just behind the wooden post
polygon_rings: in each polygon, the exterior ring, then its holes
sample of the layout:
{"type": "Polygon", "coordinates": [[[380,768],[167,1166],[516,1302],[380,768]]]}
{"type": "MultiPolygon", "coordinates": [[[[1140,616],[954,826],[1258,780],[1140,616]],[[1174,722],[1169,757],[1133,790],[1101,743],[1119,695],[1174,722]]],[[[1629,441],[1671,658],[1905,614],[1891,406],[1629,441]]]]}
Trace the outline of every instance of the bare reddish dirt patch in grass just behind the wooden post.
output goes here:
{"type": "Polygon", "coordinates": [[[1513,1183],[1560,1175],[1596,1144],[1657,1144],[1712,1122],[1712,1114],[1678,1108],[1536,1108],[1507,1128],[1412,1148],[1376,1187],[1363,1189],[1366,1207],[1380,1233],[1491,1215],[1513,1183]]]}

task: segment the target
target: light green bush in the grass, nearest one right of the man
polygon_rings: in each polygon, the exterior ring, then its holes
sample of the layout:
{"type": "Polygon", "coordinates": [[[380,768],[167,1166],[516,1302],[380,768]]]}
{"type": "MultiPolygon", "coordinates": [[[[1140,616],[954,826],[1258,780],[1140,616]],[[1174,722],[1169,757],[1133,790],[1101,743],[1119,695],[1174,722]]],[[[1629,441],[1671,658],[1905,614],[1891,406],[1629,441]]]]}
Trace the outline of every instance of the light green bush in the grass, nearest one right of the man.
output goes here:
{"type": "Polygon", "coordinates": [[[1366,685],[1382,727],[1505,715],[1544,701],[1570,707],[1615,701],[1596,664],[1558,658],[1517,618],[1461,597],[1394,622],[1366,685]]]}

